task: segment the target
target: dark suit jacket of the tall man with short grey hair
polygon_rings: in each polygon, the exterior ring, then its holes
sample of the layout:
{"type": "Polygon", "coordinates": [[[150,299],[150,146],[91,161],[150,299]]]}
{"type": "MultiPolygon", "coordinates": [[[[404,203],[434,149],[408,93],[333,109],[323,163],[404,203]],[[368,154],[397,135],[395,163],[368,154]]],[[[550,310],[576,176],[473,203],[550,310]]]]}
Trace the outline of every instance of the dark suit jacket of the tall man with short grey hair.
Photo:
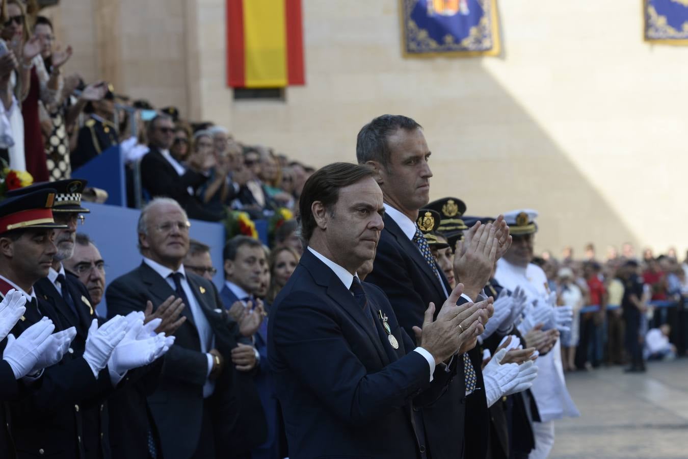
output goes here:
{"type": "MultiPolygon", "coordinates": [[[[385,292],[394,307],[399,324],[413,337],[411,328],[413,325],[422,325],[428,304],[432,301],[439,310],[447,296],[444,295],[440,281],[420,254],[418,246],[406,237],[389,215],[385,215],[384,222],[385,228],[380,234],[373,271],[366,277],[366,281],[385,292]]],[[[451,291],[439,267],[438,272],[447,292],[451,291]]],[[[459,303],[465,301],[460,299],[459,303]]],[[[480,361],[477,354],[480,354],[477,350],[469,353],[472,361],[480,361]]],[[[476,366],[475,363],[473,365],[478,389],[466,397],[462,357],[458,356],[455,360],[458,360],[458,376],[453,378],[438,403],[422,410],[430,453],[433,459],[455,459],[462,457],[465,448],[466,458],[484,458],[489,425],[481,366],[476,366]],[[472,403],[471,412],[466,413],[466,404],[471,398],[475,399],[475,403],[472,403]],[[471,422],[466,423],[466,418],[471,422]],[[469,439],[465,445],[462,434],[469,439]]]]}

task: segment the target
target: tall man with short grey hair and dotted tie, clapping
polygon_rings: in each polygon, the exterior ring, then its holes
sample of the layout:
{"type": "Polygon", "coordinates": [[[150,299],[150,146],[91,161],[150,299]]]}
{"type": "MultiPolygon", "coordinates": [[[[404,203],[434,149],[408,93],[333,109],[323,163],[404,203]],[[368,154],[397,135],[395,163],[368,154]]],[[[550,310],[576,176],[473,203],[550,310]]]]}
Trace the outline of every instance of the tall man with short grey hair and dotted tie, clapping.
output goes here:
{"type": "MultiPolygon", "coordinates": [[[[405,116],[379,116],[358,133],[356,158],[375,169],[386,211],[385,229],[368,280],[383,289],[394,305],[400,325],[407,331],[422,323],[427,303],[444,303],[450,290],[415,223],[418,211],[429,202],[430,155],[420,125],[405,116]]],[[[503,247],[510,240],[502,220],[496,226],[484,228],[481,233],[484,241],[473,238],[472,230],[462,246],[462,256],[455,259],[455,272],[464,283],[462,303],[483,298],[479,295],[489,279],[494,257],[506,250],[503,247]],[[494,253],[486,251],[491,244],[494,253]]],[[[440,403],[422,412],[422,423],[435,459],[462,456],[472,459],[486,455],[489,425],[482,358],[475,350],[469,353],[473,348],[475,340],[464,345],[457,356],[458,377],[453,379],[440,403]],[[471,403],[474,407],[471,412],[466,409],[468,398],[476,399],[471,403]],[[471,422],[465,422],[466,418],[471,422]]]]}

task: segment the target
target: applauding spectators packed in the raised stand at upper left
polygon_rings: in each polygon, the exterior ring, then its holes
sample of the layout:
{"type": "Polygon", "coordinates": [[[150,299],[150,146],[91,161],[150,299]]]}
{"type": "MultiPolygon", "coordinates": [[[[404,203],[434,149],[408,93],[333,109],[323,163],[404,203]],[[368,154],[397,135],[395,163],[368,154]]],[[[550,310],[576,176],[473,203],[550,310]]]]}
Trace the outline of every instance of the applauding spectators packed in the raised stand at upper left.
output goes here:
{"type": "Polygon", "coordinates": [[[140,174],[143,202],[174,198],[191,218],[219,221],[241,210],[256,219],[294,209],[314,169],[243,144],[213,122],[188,120],[175,107],[132,100],[105,81],[63,76],[72,47],[58,42],[34,3],[2,3],[0,156],[10,169],[28,171],[34,182],[60,180],[119,145],[131,205],[132,175],[140,174]]]}

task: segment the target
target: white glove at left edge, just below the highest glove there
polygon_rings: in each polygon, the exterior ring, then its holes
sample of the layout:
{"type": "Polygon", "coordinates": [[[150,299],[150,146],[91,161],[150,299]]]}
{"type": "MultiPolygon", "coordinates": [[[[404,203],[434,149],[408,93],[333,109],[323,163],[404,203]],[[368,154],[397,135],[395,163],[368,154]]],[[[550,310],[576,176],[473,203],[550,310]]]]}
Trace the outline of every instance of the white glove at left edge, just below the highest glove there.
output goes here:
{"type": "Polygon", "coordinates": [[[50,345],[48,337],[52,330],[55,330],[55,325],[50,319],[43,317],[24,330],[17,339],[14,339],[13,334],[8,334],[2,358],[12,367],[14,378],[23,378],[31,372],[41,354],[50,345]]]}

